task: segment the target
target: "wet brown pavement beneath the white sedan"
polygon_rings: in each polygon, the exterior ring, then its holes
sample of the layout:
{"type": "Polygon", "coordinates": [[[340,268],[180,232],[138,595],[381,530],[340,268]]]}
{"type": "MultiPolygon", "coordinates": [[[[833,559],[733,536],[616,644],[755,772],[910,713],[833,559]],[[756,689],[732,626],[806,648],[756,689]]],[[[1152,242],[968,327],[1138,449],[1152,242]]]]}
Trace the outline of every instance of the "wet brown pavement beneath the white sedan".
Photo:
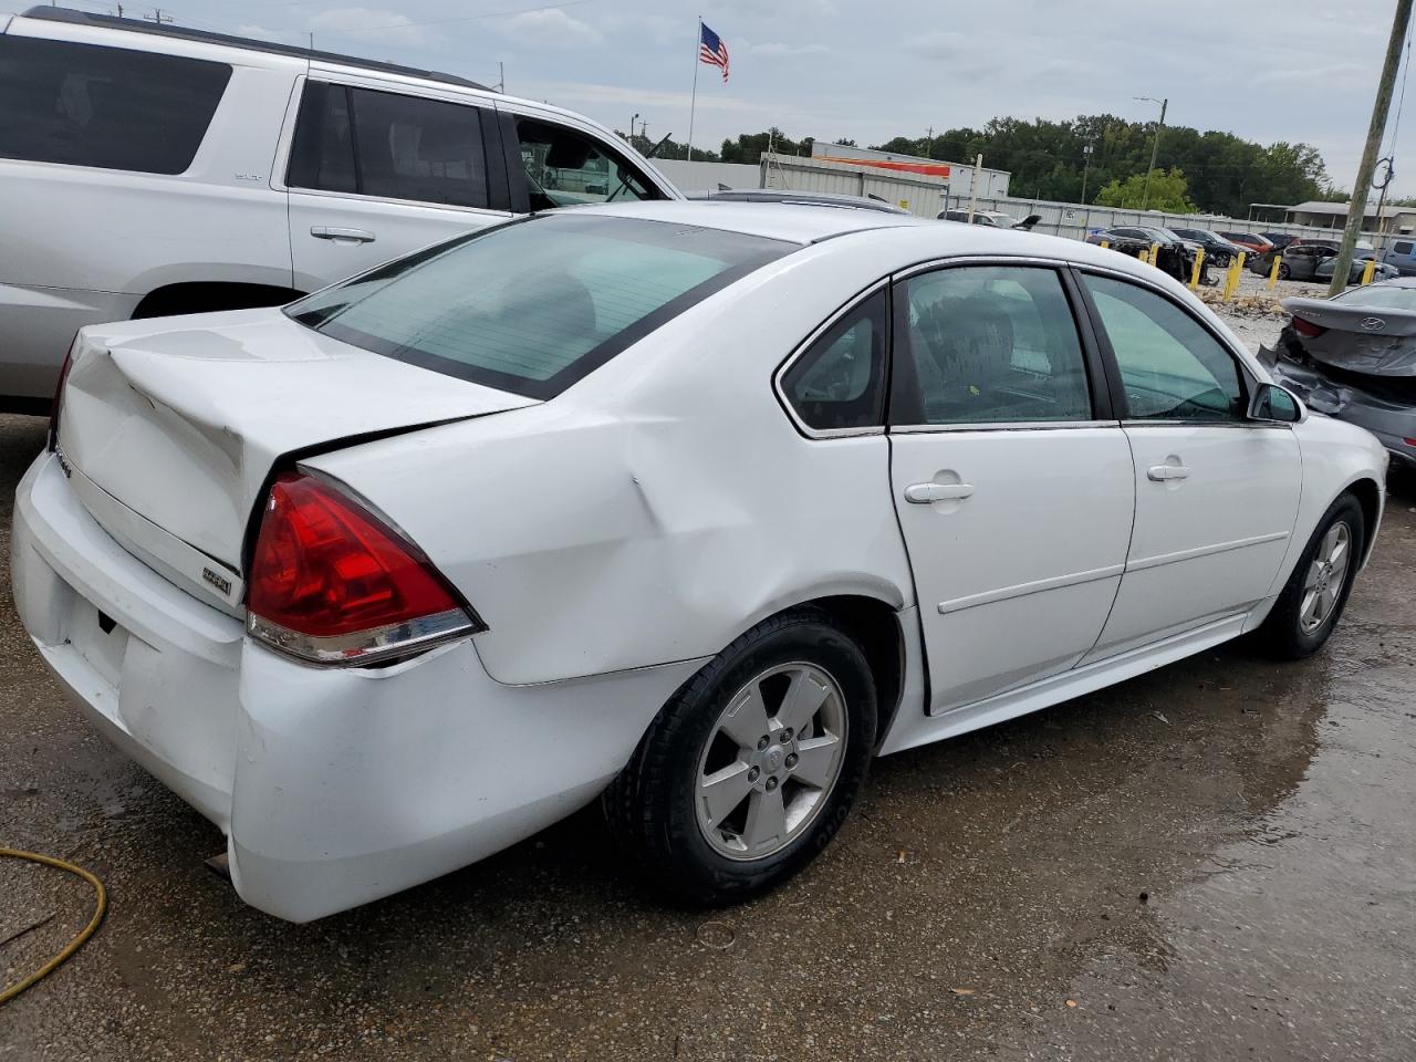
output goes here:
{"type": "MultiPolygon", "coordinates": [[[[0,418],[0,547],[42,423],[0,418]]],[[[1328,647],[1231,646],[877,760],[806,874],[664,906],[595,814],[307,926],[202,868],[218,831],[109,749],[0,575],[0,844],[108,885],[0,1008],[0,1059],[1416,1056],[1416,480],[1328,647]]],[[[7,565],[6,565],[7,568],[7,565]]],[[[0,980],[88,888],[0,860],[0,980]]]]}

